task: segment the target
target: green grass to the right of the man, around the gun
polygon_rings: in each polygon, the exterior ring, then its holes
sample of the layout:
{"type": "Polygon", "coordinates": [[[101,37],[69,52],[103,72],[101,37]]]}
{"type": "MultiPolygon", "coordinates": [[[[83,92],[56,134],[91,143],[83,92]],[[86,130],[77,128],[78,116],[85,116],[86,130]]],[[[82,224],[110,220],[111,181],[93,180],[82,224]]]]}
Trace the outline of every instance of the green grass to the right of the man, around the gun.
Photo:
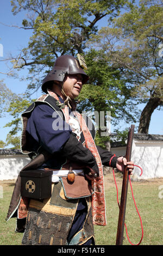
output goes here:
{"type": "MultiPolygon", "coordinates": [[[[111,175],[111,174],[110,174],[111,175]]],[[[111,177],[111,176],[110,176],[111,177]]],[[[120,202],[122,178],[117,176],[118,181],[118,198],[120,202]]],[[[105,184],[107,186],[105,178],[105,184]]],[[[110,183],[114,184],[111,179],[110,183]]],[[[131,182],[134,198],[137,208],[139,210],[142,225],[143,225],[143,240],[141,245],[162,245],[163,244],[163,199],[159,198],[159,186],[163,185],[163,179],[153,179],[143,182],[131,182]]],[[[117,224],[118,224],[118,204],[116,199],[115,186],[106,187],[106,227],[95,226],[95,237],[98,245],[115,245],[117,224]]],[[[131,195],[130,185],[128,187],[127,206],[126,206],[126,219],[129,239],[134,245],[139,243],[142,235],[141,223],[139,215],[137,214],[134,201],[131,195]]],[[[130,245],[126,229],[124,228],[123,245],[130,245]]]]}

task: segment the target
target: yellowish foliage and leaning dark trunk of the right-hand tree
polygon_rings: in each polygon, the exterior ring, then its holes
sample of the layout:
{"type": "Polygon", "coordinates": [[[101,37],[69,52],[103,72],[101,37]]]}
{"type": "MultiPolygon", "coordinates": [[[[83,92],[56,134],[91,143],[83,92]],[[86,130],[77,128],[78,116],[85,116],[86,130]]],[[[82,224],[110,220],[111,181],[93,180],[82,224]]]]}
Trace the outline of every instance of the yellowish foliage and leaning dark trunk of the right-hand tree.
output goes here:
{"type": "Polygon", "coordinates": [[[130,86],[130,100],[147,104],[138,132],[148,133],[151,114],[163,106],[163,66],[159,54],[163,8],[159,0],[142,0],[139,4],[130,4],[126,13],[114,19],[112,27],[103,27],[89,43],[104,51],[103,61],[120,70],[126,86],[130,86]]]}

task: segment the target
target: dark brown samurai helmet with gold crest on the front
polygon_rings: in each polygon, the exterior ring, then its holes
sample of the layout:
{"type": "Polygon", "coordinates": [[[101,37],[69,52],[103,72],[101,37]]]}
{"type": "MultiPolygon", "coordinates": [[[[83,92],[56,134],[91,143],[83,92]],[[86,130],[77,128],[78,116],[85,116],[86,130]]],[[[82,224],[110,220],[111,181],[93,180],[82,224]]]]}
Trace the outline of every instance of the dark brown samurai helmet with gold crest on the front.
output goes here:
{"type": "Polygon", "coordinates": [[[89,80],[89,76],[84,71],[84,69],[87,69],[85,60],[80,54],[77,54],[77,56],[78,59],[73,56],[62,55],[55,60],[52,71],[43,80],[41,87],[43,92],[47,93],[48,83],[50,81],[63,82],[66,74],[81,74],[83,76],[83,84],[89,80]]]}

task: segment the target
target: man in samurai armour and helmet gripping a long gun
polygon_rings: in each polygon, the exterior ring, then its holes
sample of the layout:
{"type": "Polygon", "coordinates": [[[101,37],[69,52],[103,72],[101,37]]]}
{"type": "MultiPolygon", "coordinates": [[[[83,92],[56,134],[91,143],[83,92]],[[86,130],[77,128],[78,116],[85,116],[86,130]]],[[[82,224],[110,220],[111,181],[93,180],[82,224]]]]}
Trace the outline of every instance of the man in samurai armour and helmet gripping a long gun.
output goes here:
{"type": "Polygon", "coordinates": [[[84,69],[82,56],[58,57],[44,94],[22,114],[21,150],[31,161],[20,174],[51,171],[51,196],[43,199],[23,196],[18,175],[6,220],[16,217],[22,245],[95,245],[93,225],[106,225],[103,166],[134,168],[96,146],[95,126],[77,112],[75,98],[89,80],[84,69]]]}

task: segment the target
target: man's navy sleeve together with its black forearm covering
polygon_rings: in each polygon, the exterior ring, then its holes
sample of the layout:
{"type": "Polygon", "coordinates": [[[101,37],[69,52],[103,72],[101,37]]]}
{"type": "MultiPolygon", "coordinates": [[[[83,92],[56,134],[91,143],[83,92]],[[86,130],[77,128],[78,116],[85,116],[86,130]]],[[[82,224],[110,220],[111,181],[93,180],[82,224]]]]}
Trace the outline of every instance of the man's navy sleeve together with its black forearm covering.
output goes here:
{"type": "Polygon", "coordinates": [[[73,136],[71,128],[65,129],[65,121],[53,115],[48,105],[38,105],[27,124],[27,132],[50,154],[59,153],[67,159],[91,167],[98,174],[98,166],[91,151],[73,136]],[[54,123],[55,128],[54,129],[54,123]]]}

